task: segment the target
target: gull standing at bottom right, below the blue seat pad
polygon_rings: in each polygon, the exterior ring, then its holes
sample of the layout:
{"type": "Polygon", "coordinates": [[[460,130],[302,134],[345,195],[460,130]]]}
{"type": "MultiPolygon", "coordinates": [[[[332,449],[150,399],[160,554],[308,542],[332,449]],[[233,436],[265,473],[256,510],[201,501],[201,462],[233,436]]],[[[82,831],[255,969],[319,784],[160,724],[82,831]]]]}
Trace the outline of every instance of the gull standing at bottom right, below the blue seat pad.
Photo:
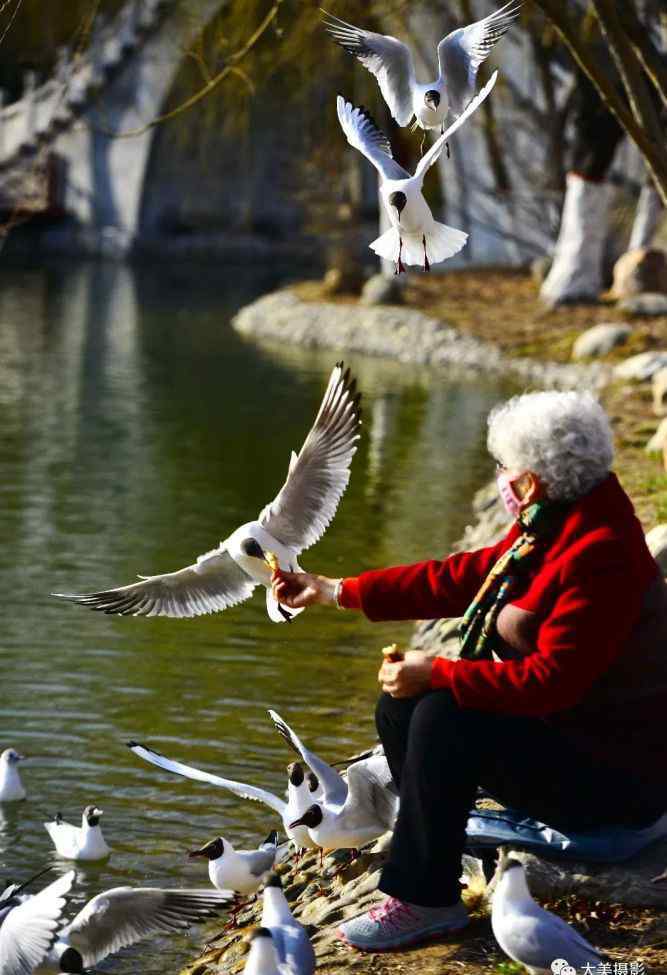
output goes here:
{"type": "Polygon", "coordinates": [[[530,896],[523,864],[501,857],[500,880],[493,895],[491,927],[506,955],[531,975],[552,975],[551,963],[565,958],[579,971],[597,966],[602,956],[562,918],[545,911],[530,896]]]}

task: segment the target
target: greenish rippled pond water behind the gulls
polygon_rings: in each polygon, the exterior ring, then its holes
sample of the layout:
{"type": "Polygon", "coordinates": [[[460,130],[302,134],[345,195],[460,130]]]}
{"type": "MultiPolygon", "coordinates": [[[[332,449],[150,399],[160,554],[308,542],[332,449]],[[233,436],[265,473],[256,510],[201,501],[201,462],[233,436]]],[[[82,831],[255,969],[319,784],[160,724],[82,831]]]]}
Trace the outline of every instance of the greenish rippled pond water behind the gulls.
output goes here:
{"type": "MultiPolygon", "coordinates": [[[[193,846],[256,843],[269,810],[142,764],[130,738],[284,788],[274,707],[324,757],[373,737],[379,648],[407,625],[315,608],[292,626],[263,598],[195,621],[119,619],[52,591],[189,564],[282,484],[335,354],[259,347],[229,325],[280,272],[101,264],[0,271],[0,748],[27,756],[26,802],[0,807],[0,877],[53,862],[42,823],[96,803],[113,848],[79,870],[76,902],[121,884],[206,886],[193,846]]],[[[353,357],[363,439],[325,538],[329,575],[444,554],[491,472],[485,416],[507,393],[353,357]]],[[[68,864],[55,860],[56,870],[68,864]]],[[[102,966],[177,973],[210,934],[153,940],[102,966]]]]}

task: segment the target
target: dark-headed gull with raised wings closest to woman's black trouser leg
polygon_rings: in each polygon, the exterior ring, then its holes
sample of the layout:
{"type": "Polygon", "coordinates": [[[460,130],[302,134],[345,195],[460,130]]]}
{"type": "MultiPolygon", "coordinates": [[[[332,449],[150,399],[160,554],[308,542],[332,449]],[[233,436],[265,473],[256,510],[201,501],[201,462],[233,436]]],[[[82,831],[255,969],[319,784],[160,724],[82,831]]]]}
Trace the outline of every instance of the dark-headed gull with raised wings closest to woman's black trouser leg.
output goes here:
{"type": "Polygon", "coordinates": [[[347,781],[335,769],[309,751],[275,711],[269,715],[283,736],[315,773],[322,797],[312,803],[290,828],[307,826],[311,838],[324,851],[358,850],[393,829],[398,797],[384,755],[372,755],[347,769],[347,781]]]}

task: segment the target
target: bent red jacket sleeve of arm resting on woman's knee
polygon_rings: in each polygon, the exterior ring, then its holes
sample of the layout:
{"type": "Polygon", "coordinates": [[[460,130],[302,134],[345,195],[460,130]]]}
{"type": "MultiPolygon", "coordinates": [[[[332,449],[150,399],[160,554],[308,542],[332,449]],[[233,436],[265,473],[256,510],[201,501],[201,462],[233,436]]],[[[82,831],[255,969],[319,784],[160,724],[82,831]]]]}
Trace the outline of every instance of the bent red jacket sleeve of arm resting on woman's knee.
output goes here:
{"type": "Polygon", "coordinates": [[[449,687],[465,708],[545,717],[573,707],[613,662],[641,611],[617,546],[595,546],[560,573],[554,605],[534,653],[521,660],[443,660],[432,686],[449,687]]]}

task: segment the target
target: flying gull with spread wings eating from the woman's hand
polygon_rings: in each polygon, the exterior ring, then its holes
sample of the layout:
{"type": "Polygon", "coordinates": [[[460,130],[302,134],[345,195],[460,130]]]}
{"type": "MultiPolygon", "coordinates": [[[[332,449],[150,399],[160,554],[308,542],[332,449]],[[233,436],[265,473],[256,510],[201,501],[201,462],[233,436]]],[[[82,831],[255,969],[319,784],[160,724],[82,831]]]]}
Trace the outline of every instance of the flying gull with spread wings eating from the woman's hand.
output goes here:
{"type": "Polygon", "coordinates": [[[177,572],[139,576],[140,582],[103,592],[53,595],[104,613],[185,619],[245,602],[263,585],[270,619],[289,622],[302,609],[287,610],[276,602],[271,575],[281,566],[303,571],[298,556],[333,520],[359,439],[361,394],[356,385],[350,370],[337,363],[301,451],[292,451],[285,483],[256,521],[241,525],[217,548],[177,572]]]}

